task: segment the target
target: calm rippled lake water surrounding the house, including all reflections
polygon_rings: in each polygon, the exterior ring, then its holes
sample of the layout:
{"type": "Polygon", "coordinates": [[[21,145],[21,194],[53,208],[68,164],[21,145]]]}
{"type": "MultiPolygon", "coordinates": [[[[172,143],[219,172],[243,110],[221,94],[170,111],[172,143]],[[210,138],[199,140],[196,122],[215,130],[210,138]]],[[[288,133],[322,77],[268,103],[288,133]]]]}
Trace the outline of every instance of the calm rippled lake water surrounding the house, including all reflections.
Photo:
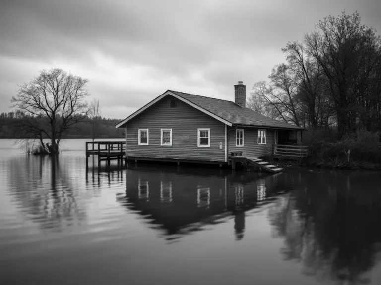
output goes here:
{"type": "Polygon", "coordinates": [[[0,283],[381,284],[381,173],[85,168],[0,140],[0,283]]]}

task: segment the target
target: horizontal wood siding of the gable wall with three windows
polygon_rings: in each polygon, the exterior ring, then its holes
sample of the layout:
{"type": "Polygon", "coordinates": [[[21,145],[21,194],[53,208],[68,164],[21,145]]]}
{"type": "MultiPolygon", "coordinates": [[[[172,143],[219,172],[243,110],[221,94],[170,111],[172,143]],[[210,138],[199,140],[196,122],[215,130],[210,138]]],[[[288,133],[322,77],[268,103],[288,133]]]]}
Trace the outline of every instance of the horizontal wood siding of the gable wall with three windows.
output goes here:
{"type": "Polygon", "coordinates": [[[127,123],[126,156],[224,162],[225,124],[167,96],[127,123]],[[197,146],[198,128],[210,128],[210,147],[197,146]],[[149,145],[138,145],[138,129],[149,129],[149,145]],[[172,146],[160,145],[160,129],[172,129],[172,146]]]}

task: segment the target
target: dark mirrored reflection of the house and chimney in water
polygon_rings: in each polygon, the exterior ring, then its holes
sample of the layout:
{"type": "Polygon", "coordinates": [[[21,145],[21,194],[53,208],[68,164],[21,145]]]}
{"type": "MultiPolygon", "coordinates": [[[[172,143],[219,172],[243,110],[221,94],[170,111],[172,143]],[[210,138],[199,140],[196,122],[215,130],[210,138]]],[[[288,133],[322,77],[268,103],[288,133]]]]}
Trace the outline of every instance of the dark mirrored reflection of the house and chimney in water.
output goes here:
{"type": "Polygon", "coordinates": [[[244,237],[245,212],[258,206],[258,201],[263,204],[279,194],[281,187],[274,178],[261,173],[139,166],[126,170],[126,193],[117,199],[169,240],[232,216],[234,235],[240,240],[244,237]]]}

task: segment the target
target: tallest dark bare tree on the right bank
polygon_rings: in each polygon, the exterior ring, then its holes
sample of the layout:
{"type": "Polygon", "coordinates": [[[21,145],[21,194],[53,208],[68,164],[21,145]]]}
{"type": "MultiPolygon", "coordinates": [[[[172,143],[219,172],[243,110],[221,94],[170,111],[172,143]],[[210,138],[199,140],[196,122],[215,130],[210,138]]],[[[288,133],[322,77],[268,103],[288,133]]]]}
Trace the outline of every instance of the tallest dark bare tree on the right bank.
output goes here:
{"type": "MultiPolygon", "coordinates": [[[[377,74],[381,58],[380,37],[373,28],[361,24],[357,12],[347,15],[344,11],[338,17],[325,17],[316,28],[317,31],[305,35],[304,42],[326,77],[341,137],[356,130],[361,107],[359,96],[374,92],[369,87],[378,79],[370,82],[369,78],[377,74]]],[[[363,115],[370,109],[365,104],[363,115]]]]}

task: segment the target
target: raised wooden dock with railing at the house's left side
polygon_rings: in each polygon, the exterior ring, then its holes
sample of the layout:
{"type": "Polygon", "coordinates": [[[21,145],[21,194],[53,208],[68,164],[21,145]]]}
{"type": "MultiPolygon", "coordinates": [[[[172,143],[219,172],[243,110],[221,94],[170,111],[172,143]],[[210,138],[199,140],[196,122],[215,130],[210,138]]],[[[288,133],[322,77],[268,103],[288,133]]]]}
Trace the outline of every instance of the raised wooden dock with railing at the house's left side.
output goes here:
{"type": "Polygon", "coordinates": [[[101,168],[101,161],[107,161],[110,166],[111,160],[118,160],[118,167],[123,165],[123,158],[126,155],[125,141],[98,141],[86,142],[86,168],[89,165],[89,157],[98,156],[98,168],[101,168]]]}

